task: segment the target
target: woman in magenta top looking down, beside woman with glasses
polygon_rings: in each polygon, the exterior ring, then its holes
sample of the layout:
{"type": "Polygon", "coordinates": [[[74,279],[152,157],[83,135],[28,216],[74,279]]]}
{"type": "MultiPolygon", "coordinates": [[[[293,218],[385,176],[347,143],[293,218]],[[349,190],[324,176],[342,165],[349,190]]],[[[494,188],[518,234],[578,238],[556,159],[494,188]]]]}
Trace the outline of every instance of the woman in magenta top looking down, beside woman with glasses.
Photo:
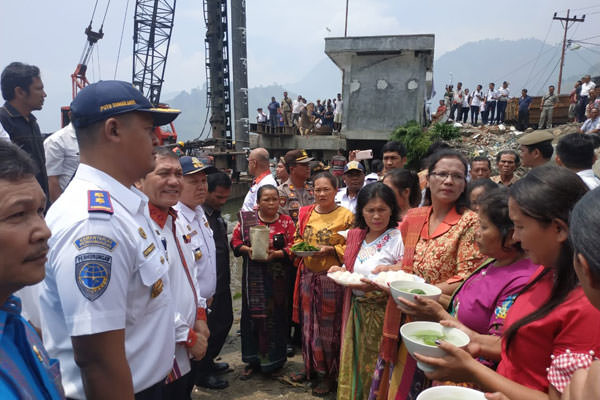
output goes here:
{"type": "MultiPolygon", "coordinates": [[[[415,320],[456,319],[478,335],[492,335],[499,341],[508,309],[539,267],[525,257],[513,239],[514,226],[508,216],[508,190],[497,187],[483,195],[478,212],[475,241],[489,257],[454,292],[450,312],[437,301],[415,296],[413,302],[399,299],[405,313],[415,320]]],[[[484,357],[486,365],[496,365],[498,355],[484,357]]]]}

